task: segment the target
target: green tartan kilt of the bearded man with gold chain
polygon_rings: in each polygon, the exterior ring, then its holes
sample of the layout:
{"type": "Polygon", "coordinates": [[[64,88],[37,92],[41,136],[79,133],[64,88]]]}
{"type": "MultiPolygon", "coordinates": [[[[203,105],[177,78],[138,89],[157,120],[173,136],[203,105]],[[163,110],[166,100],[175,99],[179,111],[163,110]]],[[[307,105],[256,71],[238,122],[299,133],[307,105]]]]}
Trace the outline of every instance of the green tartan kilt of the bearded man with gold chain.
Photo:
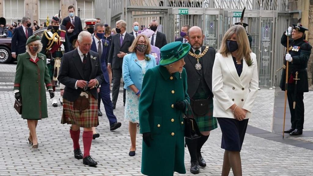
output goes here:
{"type": "MultiPolygon", "coordinates": [[[[204,92],[195,93],[192,99],[204,100],[204,99],[207,99],[209,95],[210,94],[208,93],[206,94],[204,92]]],[[[217,119],[216,117],[213,117],[213,98],[211,97],[208,100],[209,100],[209,109],[206,114],[199,116],[193,112],[194,118],[197,122],[200,132],[211,131],[217,128],[217,119]]]]}

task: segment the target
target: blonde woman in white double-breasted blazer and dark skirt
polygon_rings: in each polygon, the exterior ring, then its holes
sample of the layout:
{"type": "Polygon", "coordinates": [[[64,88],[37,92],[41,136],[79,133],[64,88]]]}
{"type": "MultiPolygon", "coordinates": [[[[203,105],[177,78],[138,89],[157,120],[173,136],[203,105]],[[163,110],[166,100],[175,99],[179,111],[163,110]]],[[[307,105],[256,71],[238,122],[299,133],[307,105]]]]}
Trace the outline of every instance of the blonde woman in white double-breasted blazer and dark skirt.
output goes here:
{"type": "Polygon", "coordinates": [[[213,116],[221,127],[221,148],[225,149],[222,175],[232,168],[234,176],[241,176],[240,150],[259,87],[256,55],[243,26],[234,25],[224,35],[215,55],[212,86],[213,116]]]}

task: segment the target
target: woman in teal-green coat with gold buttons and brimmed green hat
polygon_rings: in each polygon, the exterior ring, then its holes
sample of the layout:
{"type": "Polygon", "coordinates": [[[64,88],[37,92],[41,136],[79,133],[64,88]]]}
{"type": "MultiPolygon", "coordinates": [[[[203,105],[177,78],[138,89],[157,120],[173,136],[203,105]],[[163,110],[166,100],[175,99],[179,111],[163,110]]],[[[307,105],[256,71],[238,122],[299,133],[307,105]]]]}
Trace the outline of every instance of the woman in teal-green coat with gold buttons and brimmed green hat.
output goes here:
{"type": "Polygon", "coordinates": [[[172,176],[186,173],[184,164],[184,120],[187,74],[183,68],[189,44],[172,42],[163,46],[160,65],[146,71],[139,100],[142,133],[141,173],[172,176]]]}

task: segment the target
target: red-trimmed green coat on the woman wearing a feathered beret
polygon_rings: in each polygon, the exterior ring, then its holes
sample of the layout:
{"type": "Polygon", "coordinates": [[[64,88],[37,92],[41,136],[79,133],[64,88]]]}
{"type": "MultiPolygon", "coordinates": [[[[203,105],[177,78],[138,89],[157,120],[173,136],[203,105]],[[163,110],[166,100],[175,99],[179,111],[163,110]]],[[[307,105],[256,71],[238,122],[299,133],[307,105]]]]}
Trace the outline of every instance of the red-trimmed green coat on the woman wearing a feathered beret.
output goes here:
{"type": "Polygon", "coordinates": [[[46,56],[38,53],[33,61],[29,54],[18,54],[14,90],[22,96],[22,118],[38,120],[48,117],[45,87],[52,89],[46,56]]]}

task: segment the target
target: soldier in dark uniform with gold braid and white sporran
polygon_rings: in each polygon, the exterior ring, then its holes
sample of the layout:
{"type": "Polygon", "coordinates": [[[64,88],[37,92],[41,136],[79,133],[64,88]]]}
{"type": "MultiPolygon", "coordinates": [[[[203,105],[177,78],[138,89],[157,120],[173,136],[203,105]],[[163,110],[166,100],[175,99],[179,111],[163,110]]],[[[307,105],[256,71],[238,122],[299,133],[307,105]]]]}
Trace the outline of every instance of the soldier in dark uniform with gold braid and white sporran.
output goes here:
{"type": "MultiPolygon", "coordinates": [[[[52,29],[46,30],[41,38],[43,48],[40,53],[45,54],[47,57],[47,66],[49,69],[53,91],[55,91],[54,81],[58,80],[61,58],[64,53],[69,52],[69,41],[66,31],[59,29],[59,22],[60,20],[58,17],[52,17],[52,29]]],[[[58,106],[56,97],[52,100],[52,106],[58,106]]]]}

